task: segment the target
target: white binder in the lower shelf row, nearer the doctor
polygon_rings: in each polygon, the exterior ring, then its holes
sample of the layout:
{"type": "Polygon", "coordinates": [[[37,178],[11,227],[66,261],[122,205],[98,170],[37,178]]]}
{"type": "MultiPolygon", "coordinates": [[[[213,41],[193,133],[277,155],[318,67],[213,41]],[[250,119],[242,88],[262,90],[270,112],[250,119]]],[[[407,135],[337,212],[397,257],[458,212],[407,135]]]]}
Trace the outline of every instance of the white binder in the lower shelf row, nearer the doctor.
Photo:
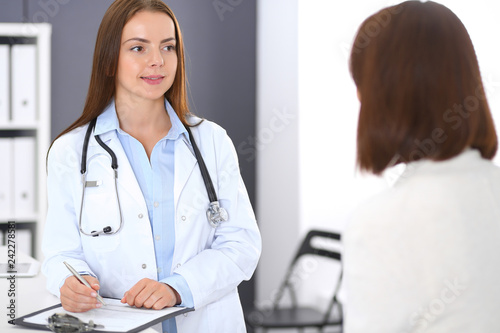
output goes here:
{"type": "Polygon", "coordinates": [[[14,218],[35,215],[35,138],[14,138],[14,218]]]}

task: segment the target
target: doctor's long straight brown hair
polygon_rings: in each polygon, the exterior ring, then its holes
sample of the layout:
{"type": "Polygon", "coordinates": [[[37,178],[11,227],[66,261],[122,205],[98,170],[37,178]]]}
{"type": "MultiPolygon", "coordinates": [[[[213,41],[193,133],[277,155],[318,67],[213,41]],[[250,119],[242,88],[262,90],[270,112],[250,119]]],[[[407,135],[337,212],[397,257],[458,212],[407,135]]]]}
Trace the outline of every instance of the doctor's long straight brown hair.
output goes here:
{"type": "Polygon", "coordinates": [[[92,74],[83,112],[55,140],[61,135],[83,126],[99,116],[111,102],[115,95],[115,75],[123,27],[139,11],[165,13],[174,21],[178,63],[174,82],[172,87],[165,93],[165,98],[172,105],[182,123],[188,125],[186,116],[190,112],[186,92],[184,44],[182,42],[179,23],[174,13],[161,0],[116,0],[104,14],[99,26],[94,50],[92,74]]]}

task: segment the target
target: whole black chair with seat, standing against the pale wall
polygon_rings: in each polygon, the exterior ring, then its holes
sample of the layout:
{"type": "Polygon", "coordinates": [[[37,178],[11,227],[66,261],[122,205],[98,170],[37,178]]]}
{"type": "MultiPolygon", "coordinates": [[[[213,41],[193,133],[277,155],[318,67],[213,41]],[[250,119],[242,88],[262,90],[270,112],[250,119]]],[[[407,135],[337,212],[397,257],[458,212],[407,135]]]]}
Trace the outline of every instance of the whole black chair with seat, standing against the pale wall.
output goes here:
{"type": "Polygon", "coordinates": [[[268,329],[280,328],[296,328],[299,332],[303,332],[304,328],[317,328],[319,332],[323,332],[326,327],[335,326],[339,332],[342,332],[342,305],[337,300],[337,293],[342,279],[341,255],[339,252],[329,249],[315,247],[313,244],[315,237],[324,237],[340,243],[340,234],[311,230],[306,235],[298,253],[292,260],[290,267],[286,273],[283,283],[280,285],[276,298],[273,301],[273,307],[270,309],[253,309],[245,314],[245,321],[248,327],[253,329],[260,328],[264,332],[268,329]],[[294,290],[294,282],[292,281],[296,266],[305,255],[320,256],[334,260],[339,265],[339,274],[334,291],[328,306],[325,311],[321,312],[311,307],[301,307],[297,304],[296,291],[294,290]],[[285,289],[289,290],[291,303],[289,307],[280,307],[279,303],[283,298],[285,289]],[[336,306],[336,311],[334,307],[336,306]]]}

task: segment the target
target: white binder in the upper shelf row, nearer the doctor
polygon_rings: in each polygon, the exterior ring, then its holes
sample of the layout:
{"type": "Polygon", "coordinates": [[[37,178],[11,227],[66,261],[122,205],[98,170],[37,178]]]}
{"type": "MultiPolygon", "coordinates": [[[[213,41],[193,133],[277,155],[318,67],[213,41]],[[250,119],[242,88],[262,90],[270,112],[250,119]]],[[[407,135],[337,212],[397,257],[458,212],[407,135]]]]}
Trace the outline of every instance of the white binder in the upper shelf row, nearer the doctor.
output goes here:
{"type": "Polygon", "coordinates": [[[36,45],[11,47],[12,122],[36,120],[36,45]]]}

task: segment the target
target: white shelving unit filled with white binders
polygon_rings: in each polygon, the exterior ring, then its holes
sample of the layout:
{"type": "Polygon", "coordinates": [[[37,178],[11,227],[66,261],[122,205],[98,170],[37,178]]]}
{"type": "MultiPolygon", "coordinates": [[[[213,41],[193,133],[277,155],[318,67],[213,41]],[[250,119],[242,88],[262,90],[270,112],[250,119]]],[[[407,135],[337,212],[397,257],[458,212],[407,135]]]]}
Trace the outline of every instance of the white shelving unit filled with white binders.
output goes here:
{"type": "Polygon", "coordinates": [[[16,244],[39,260],[51,142],[51,33],[48,23],[0,23],[0,245],[15,222],[16,244]]]}

